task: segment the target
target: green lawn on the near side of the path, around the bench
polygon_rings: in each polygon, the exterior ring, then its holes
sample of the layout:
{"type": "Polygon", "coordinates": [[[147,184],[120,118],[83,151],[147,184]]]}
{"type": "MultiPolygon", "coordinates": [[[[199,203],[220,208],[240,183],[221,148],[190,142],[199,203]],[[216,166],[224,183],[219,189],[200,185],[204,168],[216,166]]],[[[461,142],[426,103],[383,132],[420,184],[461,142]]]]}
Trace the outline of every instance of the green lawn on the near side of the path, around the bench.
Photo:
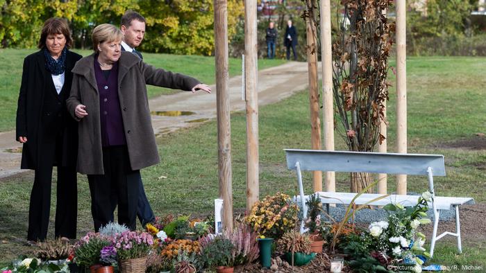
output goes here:
{"type": "MultiPolygon", "coordinates": [[[[476,202],[486,202],[486,150],[448,148],[456,141],[477,138],[475,133],[486,133],[485,70],[485,58],[408,59],[408,152],[445,155],[447,176],[435,179],[437,195],[470,196],[476,202]]],[[[390,91],[388,145],[389,152],[394,152],[396,97],[394,89],[390,91]]],[[[311,147],[308,101],[308,93],[302,91],[280,103],[260,107],[260,197],[276,191],[296,193],[296,177],[287,170],[282,149],[311,147]]],[[[210,121],[158,139],[162,162],[142,170],[146,194],[157,215],[211,213],[218,196],[216,128],[216,122],[210,121]]],[[[233,113],[233,198],[237,209],[245,206],[245,134],[245,114],[233,113]]],[[[337,150],[346,150],[343,143],[336,135],[337,150]]],[[[87,179],[81,175],[79,178],[81,236],[92,229],[92,220],[87,179]]],[[[306,191],[310,192],[310,174],[305,173],[304,179],[306,191]]],[[[337,176],[338,191],[349,191],[348,179],[348,174],[337,176]]],[[[26,236],[32,181],[32,173],[0,181],[0,261],[4,263],[27,250],[21,244],[26,236]]],[[[388,181],[389,191],[393,192],[394,177],[388,181]]],[[[426,177],[408,177],[409,191],[420,193],[427,186],[426,177]]],[[[53,220],[56,195],[52,196],[53,220]]],[[[50,227],[53,232],[53,223],[50,227]]],[[[439,241],[434,261],[444,265],[486,261],[485,242],[464,241],[463,249],[464,254],[457,255],[453,243],[439,241]]]]}

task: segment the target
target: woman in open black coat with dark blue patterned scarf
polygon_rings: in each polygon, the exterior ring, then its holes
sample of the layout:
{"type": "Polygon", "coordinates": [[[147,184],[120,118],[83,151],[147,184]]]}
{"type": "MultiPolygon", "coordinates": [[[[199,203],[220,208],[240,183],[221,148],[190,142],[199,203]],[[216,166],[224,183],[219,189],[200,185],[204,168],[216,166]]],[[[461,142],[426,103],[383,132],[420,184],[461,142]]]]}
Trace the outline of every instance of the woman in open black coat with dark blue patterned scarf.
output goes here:
{"type": "Polygon", "coordinates": [[[51,18],[42,28],[40,51],[24,59],[16,139],[24,144],[21,168],[35,170],[28,211],[31,243],[47,237],[53,166],[58,166],[54,234],[76,238],[78,132],[65,101],[71,90],[71,70],[82,56],[69,51],[70,46],[67,21],[51,18]]]}

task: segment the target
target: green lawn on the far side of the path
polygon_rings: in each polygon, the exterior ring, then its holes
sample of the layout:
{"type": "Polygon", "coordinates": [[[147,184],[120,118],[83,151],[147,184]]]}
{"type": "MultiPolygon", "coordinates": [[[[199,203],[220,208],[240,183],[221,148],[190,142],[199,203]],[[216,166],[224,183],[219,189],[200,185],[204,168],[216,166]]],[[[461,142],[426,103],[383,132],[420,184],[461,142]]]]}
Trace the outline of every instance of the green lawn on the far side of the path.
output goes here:
{"type": "MultiPolygon", "coordinates": [[[[15,112],[17,111],[17,98],[19,97],[20,81],[22,79],[22,64],[24,58],[37,51],[37,49],[0,49],[0,132],[15,129],[15,112]]],[[[92,51],[79,51],[77,53],[87,56],[92,51]]],[[[169,54],[144,53],[144,61],[154,67],[193,76],[208,85],[215,83],[215,58],[203,56],[183,56],[169,54]]],[[[284,60],[259,60],[258,68],[265,69],[284,60]]],[[[230,58],[230,76],[241,74],[242,60],[230,58]]],[[[149,85],[149,96],[174,93],[172,89],[153,87],[149,85]]]]}

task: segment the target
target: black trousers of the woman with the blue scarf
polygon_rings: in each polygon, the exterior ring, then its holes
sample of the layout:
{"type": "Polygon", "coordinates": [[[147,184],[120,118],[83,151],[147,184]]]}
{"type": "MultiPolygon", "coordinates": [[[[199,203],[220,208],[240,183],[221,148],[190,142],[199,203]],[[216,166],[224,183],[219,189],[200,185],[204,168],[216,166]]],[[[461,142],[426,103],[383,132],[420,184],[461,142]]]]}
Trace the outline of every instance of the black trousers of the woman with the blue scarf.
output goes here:
{"type": "Polygon", "coordinates": [[[78,189],[76,166],[61,165],[62,130],[48,128],[42,134],[41,159],[35,169],[31,202],[28,209],[27,240],[46,240],[51,211],[52,168],[58,163],[56,224],[54,235],[57,237],[76,238],[78,218],[78,189]]]}

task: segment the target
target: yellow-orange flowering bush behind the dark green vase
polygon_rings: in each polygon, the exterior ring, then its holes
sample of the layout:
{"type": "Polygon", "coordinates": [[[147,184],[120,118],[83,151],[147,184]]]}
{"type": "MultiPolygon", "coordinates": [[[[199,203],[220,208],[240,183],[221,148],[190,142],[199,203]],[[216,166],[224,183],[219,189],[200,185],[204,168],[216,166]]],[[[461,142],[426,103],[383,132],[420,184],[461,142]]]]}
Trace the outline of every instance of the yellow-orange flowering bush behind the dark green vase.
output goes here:
{"type": "Polygon", "coordinates": [[[278,239],[295,227],[297,212],[289,195],[276,193],[256,202],[245,220],[260,238],[278,239]]]}

